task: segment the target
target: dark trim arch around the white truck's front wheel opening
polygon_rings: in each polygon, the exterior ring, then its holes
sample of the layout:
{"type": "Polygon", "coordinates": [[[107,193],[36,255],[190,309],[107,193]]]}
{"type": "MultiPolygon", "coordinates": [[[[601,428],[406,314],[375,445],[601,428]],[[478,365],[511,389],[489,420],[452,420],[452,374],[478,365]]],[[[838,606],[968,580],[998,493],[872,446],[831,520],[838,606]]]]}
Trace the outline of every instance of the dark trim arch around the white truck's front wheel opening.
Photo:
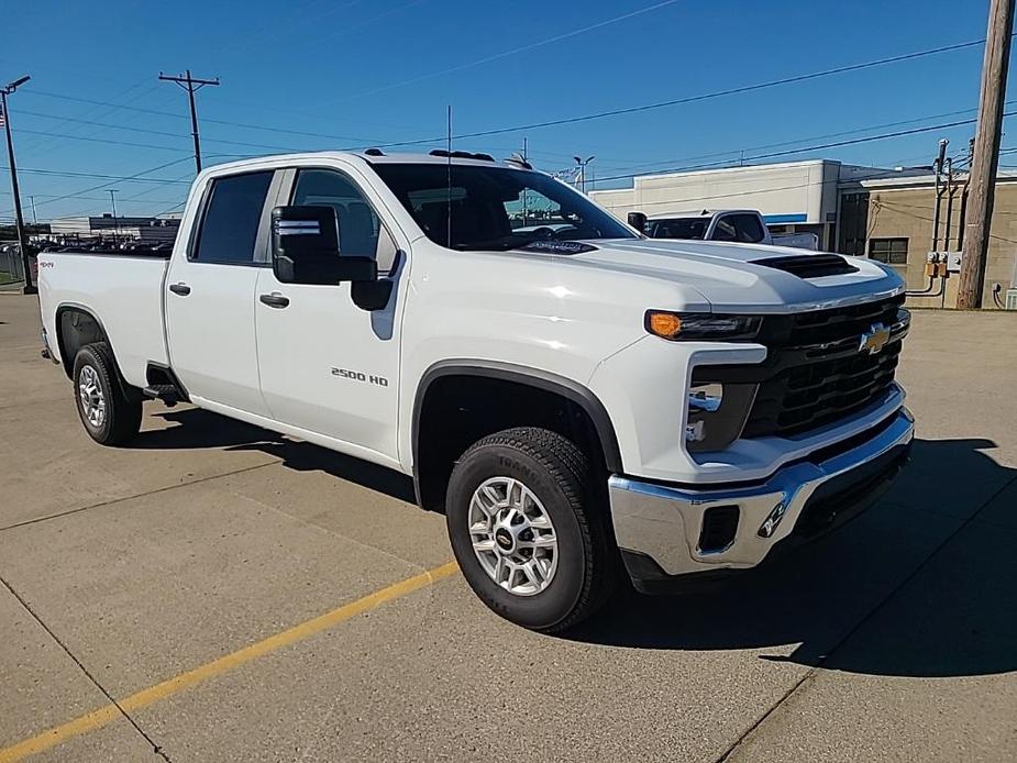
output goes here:
{"type": "MultiPolygon", "coordinates": [[[[423,410],[423,401],[427,399],[428,389],[438,379],[444,376],[479,376],[490,379],[500,379],[504,382],[513,382],[517,384],[535,387],[546,392],[561,395],[570,400],[589,417],[597,432],[597,439],[600,441],[600,449],[604,454],[604,463],[612,474],[623,474],[621,466],[621,450],[618,446],[618,436],[615,434],[615,425],[611,423],[611,417],[608,416],[607,409],[600,399],[584,385],[574,382],[564,376],[559,376],[541,368],[530,368],[513,363],[502,363],[500,361],[477,361],[471,358],[453,358],[439,361],[431,365],[420,377],[417,385],[417,396],[413,399],[413,418],[411,424],[412,449],[413,449],[413,473],[418,471],[419,447],[420,447],[420,416],[423,410]]],[[[417,482],[414,479],[414,482],[417,482]]]]}

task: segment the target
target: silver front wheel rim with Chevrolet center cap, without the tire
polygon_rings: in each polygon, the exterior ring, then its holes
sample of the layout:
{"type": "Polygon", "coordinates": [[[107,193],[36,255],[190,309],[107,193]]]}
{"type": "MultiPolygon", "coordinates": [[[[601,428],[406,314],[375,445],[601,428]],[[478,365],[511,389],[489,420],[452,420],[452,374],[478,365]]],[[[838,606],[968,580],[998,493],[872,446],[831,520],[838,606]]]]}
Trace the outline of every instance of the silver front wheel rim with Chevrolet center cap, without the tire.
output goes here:
{"type": "Polygon", "coordinates": [[[490,578],[510,594],[546,589],[557,568],[557,535],[540,499],[518,479],[491,477],[469,499],[473,552],[490,578]]]}

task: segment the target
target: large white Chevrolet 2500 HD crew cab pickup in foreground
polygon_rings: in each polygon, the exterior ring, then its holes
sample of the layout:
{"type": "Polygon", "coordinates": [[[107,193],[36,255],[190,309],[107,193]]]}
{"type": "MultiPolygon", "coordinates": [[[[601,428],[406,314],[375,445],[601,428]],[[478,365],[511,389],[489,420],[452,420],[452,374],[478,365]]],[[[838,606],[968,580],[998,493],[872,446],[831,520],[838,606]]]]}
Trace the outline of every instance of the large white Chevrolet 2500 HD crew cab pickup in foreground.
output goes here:
{"type": "Polygon", "coordinates": [[[532,629],[622,565],[655,591],[760,564],[871,501],[913,436],[891,268],[649,240],[521,162],[220,165],[165,257],[38,257],[43,354],[91,438],[189,401],[412,475],[532,629]]]}

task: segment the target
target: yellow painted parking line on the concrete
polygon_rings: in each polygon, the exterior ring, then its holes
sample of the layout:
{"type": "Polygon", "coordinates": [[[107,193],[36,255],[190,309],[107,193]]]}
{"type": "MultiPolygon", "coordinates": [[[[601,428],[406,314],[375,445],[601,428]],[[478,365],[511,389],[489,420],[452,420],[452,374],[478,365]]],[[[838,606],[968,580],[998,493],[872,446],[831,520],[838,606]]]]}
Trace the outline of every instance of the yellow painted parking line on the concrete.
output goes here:
{"type": "MultiPolygon", "coordinates": [[[[224,656],[213,660],[212,662],[200,665],[191,671],[186,673],[180,673],[173,678],[168,678],[155,686],[150,686],[146,689],[142,689],[136,694],[132,694],[129,697],[124,697],[120,700],[120,707],[125,711],[130,712],[131,710],[137,710],[143,707],[147,707],[153,703],[157,703],[161,699],[170,697],[179,692],[183,692],[186,688],[190,688],[197,684],[200,684],[203,681],[217,676],[226,671],[231,671],[234,667],[239,667],[244,663],[251,662],[257,657],[261,657],[265,654],[275,652],[276,650],[281,649],[283,646],[288,646],[289,644],[296,643],[298,641],[303,641],[316,633],[320,633],[323,630],[332,628],[333,626],[349,620],[352,617],[356,617],[362,612],[366,612],[369,609],[379,607],[386,601],[391,601],[407,594],[411,594],[414,590],[425,588],[427,586],[435,583],[443,577],[449,577],[454,574],[458,567],[455,562],[449,562],[441,565],[440,567],[434,567],[429,570],[420,575],[414,575],[399,583],[395,583],[386,588],[376,590],[374,594],[368,594],[367,596],[357,599],[356,601],[351,601],[350,604],[344,604],[342,607],[333,609],[330,612],[324,615],[319,615],[311,620],[301,622],[299,626],[294,626],[288,630],[280,631],[275,635],[269,635],[263,641],[257,641],[248,646],[244,646],[235,652],[231,652],[224,656]]],[[[11,763],[12,761],[20,761],[29,755],[34,755],[43,750],[48,750],[52,747],[60,744],[62,742],[71,739],[73,737],[78,737],[89,731],[95,731],[96,729],[101,729],[104,726],[113,722],[118,718],[123,716],[120,712],[120,709],[115,705],[107,705],[101,707],[98,710],[93,710],[87,715],[75,718],[71,721],[56,726],[48,731],[43,731],[41,734],[32,737],[31,739],[25,739],[16,744],[11,747],[3,748],[0,750],[0,763],[11,763]]]]}

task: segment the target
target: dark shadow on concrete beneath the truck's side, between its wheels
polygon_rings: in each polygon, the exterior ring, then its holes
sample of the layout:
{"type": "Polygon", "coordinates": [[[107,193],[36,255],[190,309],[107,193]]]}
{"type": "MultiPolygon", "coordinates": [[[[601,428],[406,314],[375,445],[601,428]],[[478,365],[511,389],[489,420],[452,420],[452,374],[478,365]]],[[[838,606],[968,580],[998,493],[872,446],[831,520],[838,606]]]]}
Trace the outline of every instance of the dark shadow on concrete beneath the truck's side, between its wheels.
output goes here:
{"type": "Polygon", "coordinates": [[[324,472],[384,493],[397,500],[416,502],[413,480],[376,464],[329,451],[309,442],[230,419],[200,408],[174,408],[151,413],[178,425],[144,431],[129,447],[186,450],[221,447],[226,451],[261,451],[279,458],[296,472],[324,472]]]}

